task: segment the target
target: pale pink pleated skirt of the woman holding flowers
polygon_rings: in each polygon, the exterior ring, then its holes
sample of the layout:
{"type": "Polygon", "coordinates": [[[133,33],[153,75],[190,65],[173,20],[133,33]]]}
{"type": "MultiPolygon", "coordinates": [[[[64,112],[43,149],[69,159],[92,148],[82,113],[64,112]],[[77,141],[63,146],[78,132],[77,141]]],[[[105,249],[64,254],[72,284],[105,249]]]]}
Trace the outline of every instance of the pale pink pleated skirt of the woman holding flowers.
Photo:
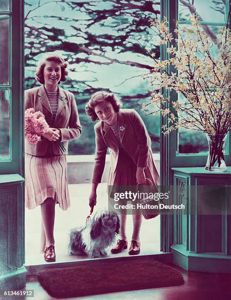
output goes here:
{"type": "Polygon", "coordinates": [[[63,210],[70,206],[66,155],[39,157],[25,153],[25,206],[33,209],[47,198],[63,210]]]}

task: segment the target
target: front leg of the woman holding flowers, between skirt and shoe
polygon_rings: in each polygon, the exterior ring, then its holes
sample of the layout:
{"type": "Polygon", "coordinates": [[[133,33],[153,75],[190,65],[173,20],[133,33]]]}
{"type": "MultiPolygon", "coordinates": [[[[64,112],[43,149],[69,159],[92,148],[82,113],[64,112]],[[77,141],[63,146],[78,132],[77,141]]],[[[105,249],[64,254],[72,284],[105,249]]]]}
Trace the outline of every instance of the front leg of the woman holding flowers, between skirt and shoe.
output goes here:
{"type": "Polygon", "coordinates": [[[47,198],[41,204],[42,222],[46,236],[46,247],[50,244],[54,245],[54,217],[55,217],[55,201],[47,198]]]}

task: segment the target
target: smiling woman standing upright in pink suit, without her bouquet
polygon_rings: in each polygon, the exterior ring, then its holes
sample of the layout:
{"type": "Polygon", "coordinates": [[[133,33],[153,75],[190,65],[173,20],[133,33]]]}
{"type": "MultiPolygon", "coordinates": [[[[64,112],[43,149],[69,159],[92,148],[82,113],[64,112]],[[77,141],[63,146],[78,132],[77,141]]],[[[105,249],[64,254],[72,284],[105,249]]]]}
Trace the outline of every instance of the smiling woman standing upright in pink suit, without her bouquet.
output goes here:
{"type": "Polygon", "coordinates": [[[25,109],[34,108],[45,115],[50,126],[36,145],[25,141],[25,204],[29,209],[41,206],[41,251],[47,262],[55,261],[55,204],[63,210],[70,205],[66,177],[67,142],[82,132],[74,95],[58,86],[65,81],[67,63],[58,55],[40,61],[36,80],[42,85],[25,91],[25,109]],[[63,142],[62,151],[55,142],[63,142]]]}

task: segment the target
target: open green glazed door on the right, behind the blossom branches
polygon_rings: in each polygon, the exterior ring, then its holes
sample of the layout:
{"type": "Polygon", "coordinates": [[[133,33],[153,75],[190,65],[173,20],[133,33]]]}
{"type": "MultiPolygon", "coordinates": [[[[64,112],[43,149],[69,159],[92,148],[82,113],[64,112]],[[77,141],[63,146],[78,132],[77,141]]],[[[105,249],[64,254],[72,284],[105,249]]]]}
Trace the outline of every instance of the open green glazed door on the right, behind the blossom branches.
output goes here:
{"type": "MultiPolygon", "coordinates": [[[[211,34],[215,34],[219,28],[226,25],[229,13],[230,0],[215,1],[185,1],[185,0],[162,0],[161,16],[167,17],[170,31],[174,36],[175,22],[180,26],[190,25],[189,17],[196,11],[200,16],[200,24],[209,26],[211,34]],[[210,13],[208,13],[210,11],[210,13]]],[[[230,21],[230,20],[229,20],[230,21]]],[[[162,59],[167,57],[166,48],[162,47],[162,59]]],[[[178,95],[174,92],[164,91],[172,101],[176,101],[178,95]]],[[[179,96],[180,97],[180,96],[179,96]]],[[[162,125],[167,125],[167,118],[162,118],[162,125]]],[[[205,167],[208,157],[208,142],[206,134],[189,130],[172,131],[168,135],[161,135],[161,183],[163,186],[174,185],[174,172],[172,168],[205,167]],[[193,146],[193,147],[192,147],[193,146]]],[[[226,142],[225,161],[231,165],[231,137],[228,134],[226,142]]],[[[187,182],[186,182],[187,185],[187,182]]],[[[169,204],[173,204],[173,195],[169,204]]],[[[161,250],[171,251],[170,246],[174,243],[176,231],[176,219],[173,214],[161,216],[161,250]]],[[[181,222],[183,222],[181,220],[181,222]]],[[[181,224],[184,227],[184,224],[181,224]]]]}

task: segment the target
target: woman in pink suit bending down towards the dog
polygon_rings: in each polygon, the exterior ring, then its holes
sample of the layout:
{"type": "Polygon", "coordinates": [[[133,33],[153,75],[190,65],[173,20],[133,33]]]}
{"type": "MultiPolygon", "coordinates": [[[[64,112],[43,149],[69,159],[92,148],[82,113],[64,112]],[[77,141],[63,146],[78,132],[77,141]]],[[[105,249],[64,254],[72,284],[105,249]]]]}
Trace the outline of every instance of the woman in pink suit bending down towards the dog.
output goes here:
{"type": "MultiPolygon", "coordinates": [[[[96,204],[97,186],[101,182],[108,148],[111,150],[109,186],[134,186],[145,183],[145,178],[158,185],[159,175],[152,158],[151,140],[139,114],[134,109],[120,109],[115,95],[104,91],[92,95],[86,111],[92,121],[99,120],[94,126],[96,151],[89,205],[96,204]]],[[[133,215],[131,255],[140,252],[141,220],[141,214],[133,215]]],[[[125,224],[126,214],[121,214],[121,239],[111,250],[112,253],[127,249],[125,224]]]]}

